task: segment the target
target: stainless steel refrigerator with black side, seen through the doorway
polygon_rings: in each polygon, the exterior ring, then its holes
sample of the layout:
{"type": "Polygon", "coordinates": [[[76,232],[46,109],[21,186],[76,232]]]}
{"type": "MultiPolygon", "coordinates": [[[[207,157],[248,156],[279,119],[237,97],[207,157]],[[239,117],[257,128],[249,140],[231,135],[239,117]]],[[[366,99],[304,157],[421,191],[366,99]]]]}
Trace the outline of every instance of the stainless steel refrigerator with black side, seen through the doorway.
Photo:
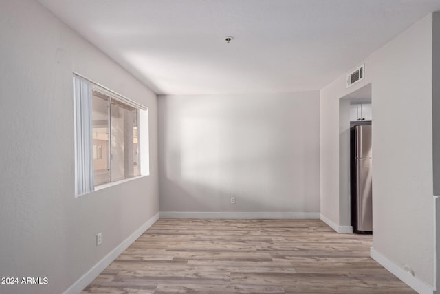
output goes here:
{"type": "Polygon", "coordinates": [[[351,128],[351,225],[354,233],[373,233],[371,125],[351,128]]]}

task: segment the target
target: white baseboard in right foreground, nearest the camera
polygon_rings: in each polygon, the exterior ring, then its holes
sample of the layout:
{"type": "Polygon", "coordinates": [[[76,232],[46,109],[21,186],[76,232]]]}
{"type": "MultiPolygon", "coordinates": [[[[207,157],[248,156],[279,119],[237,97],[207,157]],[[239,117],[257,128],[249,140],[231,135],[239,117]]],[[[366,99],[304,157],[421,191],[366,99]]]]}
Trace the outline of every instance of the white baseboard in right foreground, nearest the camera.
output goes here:
{"type": "Polygon", "coordinates": [[[377,252],[373,247],[370,248],[370,256],[373,258],[373,260],[384,266],[385,269],[393,273],[393,275],[417,291],[417,293],[432,294],[434,292],[434,289],[432,289],[432,287],[430,287],[428,284],[411,275],[391,260],[388,260],[388,258],[377,252]]]}

